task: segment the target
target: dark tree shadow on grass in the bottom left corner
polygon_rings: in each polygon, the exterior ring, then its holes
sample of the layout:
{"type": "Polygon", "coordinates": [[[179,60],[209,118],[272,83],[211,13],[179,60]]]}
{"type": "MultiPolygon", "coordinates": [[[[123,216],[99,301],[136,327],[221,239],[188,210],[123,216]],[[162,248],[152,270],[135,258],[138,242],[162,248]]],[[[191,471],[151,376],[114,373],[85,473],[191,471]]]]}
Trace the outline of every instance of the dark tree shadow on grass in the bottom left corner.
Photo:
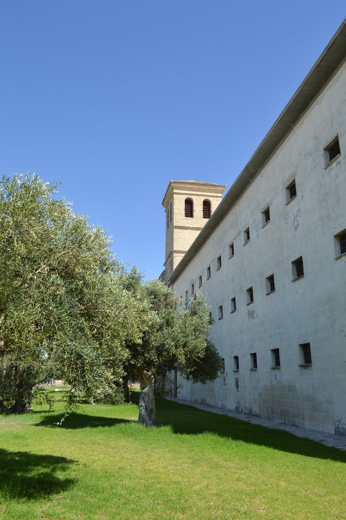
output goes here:
{"type": "Polygon", "coordinates": [[[75,479],[57,473],[67,471],[73,463],[65,457],[0,449],[0,502],[40,499],[66,491],[75,479]]]}

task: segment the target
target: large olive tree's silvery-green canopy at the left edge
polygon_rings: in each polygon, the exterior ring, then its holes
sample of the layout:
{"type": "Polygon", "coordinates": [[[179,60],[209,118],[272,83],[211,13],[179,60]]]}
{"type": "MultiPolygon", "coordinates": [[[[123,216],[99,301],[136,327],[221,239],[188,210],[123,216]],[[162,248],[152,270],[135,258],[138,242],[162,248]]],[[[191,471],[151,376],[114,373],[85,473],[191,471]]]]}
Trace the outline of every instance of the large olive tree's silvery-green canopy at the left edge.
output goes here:
{"type": "Polygon", "coordinates": [[[140,343],[152,320],[105,231],[75,215],[55,189],[35,175],[0,183],[0,409],[7,412],[30,411],[50,367],[72,384],[70,400],[109,392],[121,382],[125,343],[140,343]]]}

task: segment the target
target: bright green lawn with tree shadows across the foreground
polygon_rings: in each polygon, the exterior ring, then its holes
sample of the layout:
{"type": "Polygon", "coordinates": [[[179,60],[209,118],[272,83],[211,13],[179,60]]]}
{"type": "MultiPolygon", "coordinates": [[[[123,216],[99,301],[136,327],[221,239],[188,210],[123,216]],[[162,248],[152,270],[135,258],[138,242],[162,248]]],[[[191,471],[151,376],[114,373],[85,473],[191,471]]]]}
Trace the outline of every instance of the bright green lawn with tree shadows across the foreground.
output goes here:
{"type": "Polygon", "coordinates": [[[337,449],[164,399],[156,428],[135,404],[62,415],[0,416],[1,520],[346,518],[337,449]]]}

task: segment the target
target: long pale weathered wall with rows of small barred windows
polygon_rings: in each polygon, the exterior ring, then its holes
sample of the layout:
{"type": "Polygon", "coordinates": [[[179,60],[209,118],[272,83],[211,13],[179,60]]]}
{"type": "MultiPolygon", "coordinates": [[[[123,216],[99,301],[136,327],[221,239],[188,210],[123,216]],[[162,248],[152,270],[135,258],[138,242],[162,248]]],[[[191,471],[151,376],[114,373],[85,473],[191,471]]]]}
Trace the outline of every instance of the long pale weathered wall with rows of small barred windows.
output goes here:
{"type": "Polygon", "coordinates": [[[178,375],[178,397],[346,435],[346,255],[340,256],[335,238],[343,230],[344,63],[174,282],[183,304],[192,284],[207,295],[215,320],[210,339],[225,359],[214,383],[193,384],[178,375]],[[341,155],[326,166],[325,148],[336,136],[341,155]],[[290,199],[293,181],[297,194],[290,199]],[[304,276],[292,281],[292,262],[300,257],[304,276]],[[266,280],[271,275],[272,292],[266,280]],[[311,365],[300,346],[308,343],[311,365]],[[279,368],[273,368],[273,349],[279,349],[279,368]]]}

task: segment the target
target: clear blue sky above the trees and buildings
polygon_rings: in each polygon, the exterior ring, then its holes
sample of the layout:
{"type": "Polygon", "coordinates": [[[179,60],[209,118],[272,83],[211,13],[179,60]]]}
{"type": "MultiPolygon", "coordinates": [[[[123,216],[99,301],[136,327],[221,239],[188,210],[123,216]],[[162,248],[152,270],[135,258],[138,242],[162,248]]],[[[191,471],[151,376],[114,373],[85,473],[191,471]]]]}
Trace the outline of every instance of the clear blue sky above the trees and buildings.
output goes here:
{"type": "Polygon", "coordinates": [[[230,187],[346,16],[335,0],[0,6],[0,172],[61,181],[147,277],[170,179],[230,187]]]}

